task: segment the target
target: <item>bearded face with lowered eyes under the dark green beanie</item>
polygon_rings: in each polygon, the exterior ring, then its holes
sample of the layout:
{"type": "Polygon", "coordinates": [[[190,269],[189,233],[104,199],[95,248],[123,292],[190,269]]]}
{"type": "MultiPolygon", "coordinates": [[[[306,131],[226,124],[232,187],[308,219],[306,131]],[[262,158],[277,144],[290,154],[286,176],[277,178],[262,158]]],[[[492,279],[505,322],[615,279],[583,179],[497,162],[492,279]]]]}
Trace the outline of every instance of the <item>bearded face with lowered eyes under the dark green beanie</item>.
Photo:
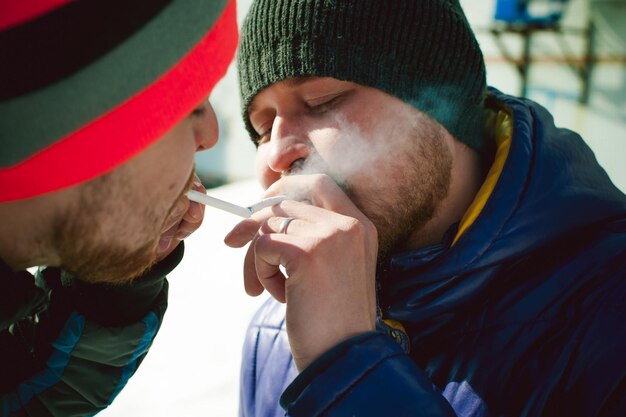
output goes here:
{"type": "Polygon", "coordinates": [[[249,114],[262,185],[330,175],[376,226],[379,259],[419,234],[448,195],[449,134],[380,90],[333,78],[286,80],[260,92],[249,114]]]}

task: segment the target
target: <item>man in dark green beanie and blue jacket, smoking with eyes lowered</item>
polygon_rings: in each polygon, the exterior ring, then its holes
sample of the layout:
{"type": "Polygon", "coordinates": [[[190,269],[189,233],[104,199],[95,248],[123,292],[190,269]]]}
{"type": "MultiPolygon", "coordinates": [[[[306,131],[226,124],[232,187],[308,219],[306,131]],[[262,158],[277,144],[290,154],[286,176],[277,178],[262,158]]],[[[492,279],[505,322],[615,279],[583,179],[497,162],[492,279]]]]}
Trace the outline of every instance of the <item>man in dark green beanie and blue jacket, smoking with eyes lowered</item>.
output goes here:
{"type": "Polygon", "coordinates": [[[458,1],[257,0],[238,65],[241,416],[626,415],[626,196],[458,1]]]}

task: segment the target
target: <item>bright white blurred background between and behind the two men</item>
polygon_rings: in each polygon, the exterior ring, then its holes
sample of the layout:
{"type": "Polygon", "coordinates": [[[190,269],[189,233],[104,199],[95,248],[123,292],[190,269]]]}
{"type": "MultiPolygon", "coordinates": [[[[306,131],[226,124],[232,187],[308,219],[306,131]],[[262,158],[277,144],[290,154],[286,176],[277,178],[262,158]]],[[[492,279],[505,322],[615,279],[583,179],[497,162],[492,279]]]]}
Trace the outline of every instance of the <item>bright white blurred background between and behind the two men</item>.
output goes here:
{"type": "MultiPolygon", "coordinates": [[[[240,22],[249,4],[238,1],[240,22]]],[[[496,0],[461,4],[483,49],[488,83],[519,95],[524,83],[516,65],[523,66],[523,32],[530,26],[495,22],[496,0]],[[494,29],[500,33],[500,46],[494,29]]],[[[535,0],[530,10],[541,20],[550,7],[555,7],[553,1],[535,0]]],[[[550,110],[557,125],[579,132],[616,185],[626,190],[626,0],[571,0],[563,13],[559,30],[531,32],[526,96],[550,110]],[[591,48],[586,31],[590,22],[591,48]],[[585,83],[588,98],[581,103],[585,83]]],[[[211,102],[220,141],[198,156],[198,173],[215,187],[210,194],[248,205],[261,189],[253,178],[254,146],[240,118],[234,64],[211,102]]],[[[237,415],[243,336],[266,297],[245,294],[245,249],[223,244],[238,221],[234,215],[206,209],[203,226],[186,240],[185,258],[169,276],[170,305],[150,353],[100,415],[237,415]]]]}

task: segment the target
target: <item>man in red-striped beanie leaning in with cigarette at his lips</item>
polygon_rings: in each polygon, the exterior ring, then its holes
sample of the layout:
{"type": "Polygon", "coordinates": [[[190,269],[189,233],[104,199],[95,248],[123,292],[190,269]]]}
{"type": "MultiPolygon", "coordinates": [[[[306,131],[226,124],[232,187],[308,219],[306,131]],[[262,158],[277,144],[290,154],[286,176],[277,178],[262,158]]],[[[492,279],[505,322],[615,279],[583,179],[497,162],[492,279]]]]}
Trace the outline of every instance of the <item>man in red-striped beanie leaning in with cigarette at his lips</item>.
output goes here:
{"type": "Polygon", "coordinates": [[[106,408],[145,357],[234,0],[0,0],[2,416],[106,408]],[[26,271],[40,268],[35,277],[26,271]]]}

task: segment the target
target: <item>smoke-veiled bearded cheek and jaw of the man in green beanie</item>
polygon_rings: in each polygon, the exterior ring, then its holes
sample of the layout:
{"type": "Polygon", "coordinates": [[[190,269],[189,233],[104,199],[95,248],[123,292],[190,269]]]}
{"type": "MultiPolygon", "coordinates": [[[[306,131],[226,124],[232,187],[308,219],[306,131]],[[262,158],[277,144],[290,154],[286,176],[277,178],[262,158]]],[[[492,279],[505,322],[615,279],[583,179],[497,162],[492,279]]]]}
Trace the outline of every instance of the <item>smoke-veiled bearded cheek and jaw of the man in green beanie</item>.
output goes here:
{"type": "Polygon", "coordinates": [[[443,126],[412,106],[382,108],[375,116],[357,125],[337,115],[310,132],[319,149],[290,174],[333,178],[378,229],[385,257],[411,247],[412,236],[433,218],[449,189],[452,156],[443,126]]]}

